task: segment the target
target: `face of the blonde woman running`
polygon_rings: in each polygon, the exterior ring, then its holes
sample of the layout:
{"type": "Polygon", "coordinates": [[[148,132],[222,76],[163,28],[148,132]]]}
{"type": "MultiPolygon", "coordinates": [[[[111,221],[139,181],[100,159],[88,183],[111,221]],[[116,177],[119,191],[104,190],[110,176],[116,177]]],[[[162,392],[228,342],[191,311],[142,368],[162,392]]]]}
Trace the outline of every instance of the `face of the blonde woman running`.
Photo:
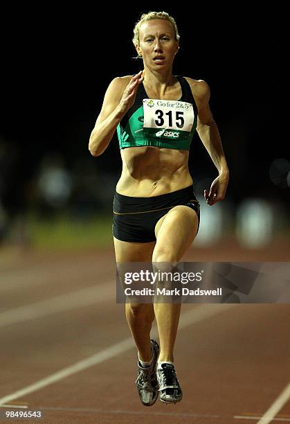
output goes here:
{"type": "Polygon", "coordinates": [[[179,48],[172,24],[165,19],[143,22],[139,29],[139,43],[136,46],[138,55],[143,57],[144,64],[154,68],[172,64],[179,48]]]}

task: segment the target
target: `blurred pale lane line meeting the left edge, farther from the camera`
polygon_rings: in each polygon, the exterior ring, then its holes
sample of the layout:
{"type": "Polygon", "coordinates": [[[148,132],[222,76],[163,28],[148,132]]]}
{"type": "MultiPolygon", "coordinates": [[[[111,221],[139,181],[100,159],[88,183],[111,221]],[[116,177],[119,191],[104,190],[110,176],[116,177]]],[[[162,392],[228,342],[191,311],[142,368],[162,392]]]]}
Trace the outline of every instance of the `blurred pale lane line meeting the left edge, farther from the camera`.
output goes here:
{"type": "Polygon", "coordinates": [[[20,306],[0,312],[0,327],[30,321],[57,312],[65,312],[74,308],[93,305],[116,297],[116,283],[108,281],[99,285],[72,293],[61,294],[44,301],[37,301],[26,306],[20,306]]]}

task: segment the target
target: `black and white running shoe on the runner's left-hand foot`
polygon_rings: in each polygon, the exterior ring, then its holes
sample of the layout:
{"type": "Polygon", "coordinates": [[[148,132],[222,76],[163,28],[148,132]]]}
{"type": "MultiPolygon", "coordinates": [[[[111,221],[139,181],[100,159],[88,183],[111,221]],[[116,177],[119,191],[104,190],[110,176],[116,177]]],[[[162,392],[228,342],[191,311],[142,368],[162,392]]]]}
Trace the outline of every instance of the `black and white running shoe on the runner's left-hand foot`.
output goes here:
{"type": "Polygon", "coordinates": [[[136,386],[141,403],[152,406],[158,398],[158,382],[156,378],[156,363],[159,355],[159,345],[155,340],[150,340],[153,355],[151,366],[143,368],[138,361],[138,375],[136,386]]]}

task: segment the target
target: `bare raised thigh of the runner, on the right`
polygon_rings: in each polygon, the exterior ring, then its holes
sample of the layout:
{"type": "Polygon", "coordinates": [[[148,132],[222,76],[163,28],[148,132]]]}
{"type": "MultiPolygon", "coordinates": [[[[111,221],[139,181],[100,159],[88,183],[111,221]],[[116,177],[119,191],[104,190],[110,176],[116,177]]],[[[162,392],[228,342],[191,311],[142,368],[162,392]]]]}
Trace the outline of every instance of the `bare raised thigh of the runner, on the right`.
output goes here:
{"type": "Polygon", "coordinates": [[[157,241],[153,261],[160,258],[168,262],[179,261],[197,235],[198,225],[197,212],[190,207],[179,205],[170,209],[155,227],[157,241]]]}

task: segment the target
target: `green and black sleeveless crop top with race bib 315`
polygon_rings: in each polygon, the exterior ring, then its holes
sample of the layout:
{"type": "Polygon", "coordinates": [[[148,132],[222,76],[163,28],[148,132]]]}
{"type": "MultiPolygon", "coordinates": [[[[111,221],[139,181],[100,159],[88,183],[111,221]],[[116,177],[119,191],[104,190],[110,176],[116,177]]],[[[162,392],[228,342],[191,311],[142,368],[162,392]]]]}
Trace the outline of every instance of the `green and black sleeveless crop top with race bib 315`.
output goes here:
{"type": "Polygon", "coordinates": [[[143,84],[136,100],[117,127],[120,149],[150,145],[190,150],[197,127],[197,105],[187,80],[176,76],[182,90],[180,100],[148,98],[143,84]]]}

